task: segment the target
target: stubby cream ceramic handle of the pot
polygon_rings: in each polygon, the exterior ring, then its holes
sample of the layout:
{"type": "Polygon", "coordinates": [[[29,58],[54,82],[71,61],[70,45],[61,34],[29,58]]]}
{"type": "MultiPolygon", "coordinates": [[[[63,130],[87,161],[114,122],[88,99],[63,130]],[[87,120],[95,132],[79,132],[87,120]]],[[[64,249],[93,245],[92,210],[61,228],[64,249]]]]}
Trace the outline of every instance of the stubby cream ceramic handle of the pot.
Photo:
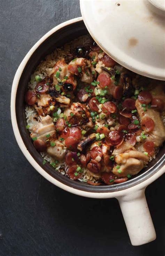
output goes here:
{"type": "Polygon", "coordinates": [[[148,209],[145,189],[117,198],[132,245],[137,246],[156,239],[155,228],[148,209]]]}

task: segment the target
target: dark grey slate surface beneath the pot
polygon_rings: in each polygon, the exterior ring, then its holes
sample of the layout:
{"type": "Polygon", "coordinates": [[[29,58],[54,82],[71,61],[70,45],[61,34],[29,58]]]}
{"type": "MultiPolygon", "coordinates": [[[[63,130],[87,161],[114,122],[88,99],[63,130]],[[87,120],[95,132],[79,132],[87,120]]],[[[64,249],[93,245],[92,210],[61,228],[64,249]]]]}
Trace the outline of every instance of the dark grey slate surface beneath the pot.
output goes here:
{"type": "Polygon", "coordinates": [[[53,186],[15,141],[9,105],[16,69],[48,30],[81,15],[79,1],[1,0],[0,12],[0,256],[164,256],[165,176],[146,190],[157,240],[133,247],[116,199],[78,197],[53,186]]]}

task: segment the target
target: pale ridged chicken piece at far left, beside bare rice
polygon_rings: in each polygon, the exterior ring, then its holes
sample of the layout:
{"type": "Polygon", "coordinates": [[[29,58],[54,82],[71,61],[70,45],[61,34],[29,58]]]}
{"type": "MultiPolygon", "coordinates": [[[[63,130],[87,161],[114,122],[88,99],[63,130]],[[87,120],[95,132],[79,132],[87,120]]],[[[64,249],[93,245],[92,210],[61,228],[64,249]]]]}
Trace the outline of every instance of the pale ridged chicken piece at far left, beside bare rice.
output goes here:
{"type": "Polygon", "coordinates": [[[38,140],[46,141],[47,134],[50,134],[50,136],[55,136],[55,126],[52,118],[49,115],[40,118],[41,122],[33,127],[30,136],[31,138],[37,137],[38,140]]]}

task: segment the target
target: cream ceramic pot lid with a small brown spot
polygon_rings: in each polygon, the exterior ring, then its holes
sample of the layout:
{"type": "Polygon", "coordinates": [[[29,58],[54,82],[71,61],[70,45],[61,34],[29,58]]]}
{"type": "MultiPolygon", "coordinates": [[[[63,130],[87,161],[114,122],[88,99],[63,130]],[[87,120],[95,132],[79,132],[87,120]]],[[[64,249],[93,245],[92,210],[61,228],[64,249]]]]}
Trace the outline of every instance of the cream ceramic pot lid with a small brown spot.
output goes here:
{"type": "Polygon", "coordinates": [[[95,42],[120,65],[165,80],[164,0],[80,0],[95,42]]]}

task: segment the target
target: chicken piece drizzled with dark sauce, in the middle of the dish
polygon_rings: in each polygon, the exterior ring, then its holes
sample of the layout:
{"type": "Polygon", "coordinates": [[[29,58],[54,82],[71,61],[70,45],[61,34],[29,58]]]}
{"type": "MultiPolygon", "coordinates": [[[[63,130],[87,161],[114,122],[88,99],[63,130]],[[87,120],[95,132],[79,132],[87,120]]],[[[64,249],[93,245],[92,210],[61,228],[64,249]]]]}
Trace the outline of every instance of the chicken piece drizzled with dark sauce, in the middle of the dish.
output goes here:
{"type": "Polygon", "coordinates": [[[67,121],[73,126],[82,126],[84,124],[89,128],[94,126],[91,115],[84,104],[72,103],[69,108],[65,108],[64,115],[67,116],[67,121]]]}

